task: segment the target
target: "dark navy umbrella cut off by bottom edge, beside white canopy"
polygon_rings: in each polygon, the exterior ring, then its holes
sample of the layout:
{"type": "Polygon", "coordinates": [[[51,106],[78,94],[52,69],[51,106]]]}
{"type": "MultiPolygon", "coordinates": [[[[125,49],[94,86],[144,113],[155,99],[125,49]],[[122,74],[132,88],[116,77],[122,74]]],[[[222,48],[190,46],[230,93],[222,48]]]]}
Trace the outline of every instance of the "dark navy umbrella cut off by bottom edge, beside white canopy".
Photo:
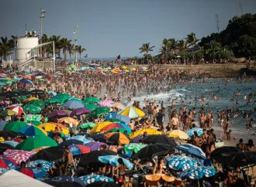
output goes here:
{"type": "Polygon", "coordinates": [[[42,182],[55,187],[85,187],[85,182],[81,179],[70,176],[46,178],[43,179],[42,182]]]}

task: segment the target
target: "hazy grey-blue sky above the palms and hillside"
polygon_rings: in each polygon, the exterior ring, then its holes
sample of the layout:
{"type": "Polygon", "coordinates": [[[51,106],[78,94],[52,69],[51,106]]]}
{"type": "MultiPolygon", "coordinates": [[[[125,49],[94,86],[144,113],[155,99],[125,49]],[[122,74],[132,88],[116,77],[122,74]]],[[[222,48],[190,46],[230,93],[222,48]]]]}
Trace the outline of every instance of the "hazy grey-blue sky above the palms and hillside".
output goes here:
{"type": "MultiPolygon", "coordinates": [[[[164,38],[184,39],[195,32],[201,39],[216,32],[215,15],[223,30],[234,15],[256,13],[255,0],[2,0],[0,36],[40,34],[40,8],[47,12],[43,33],[72,39],[78,25],[78,45],[88,57],[142,56],[142,43],[155,46],[164,38]]],[[[85,55],[84,54],[84,55],[85,55]]]]}

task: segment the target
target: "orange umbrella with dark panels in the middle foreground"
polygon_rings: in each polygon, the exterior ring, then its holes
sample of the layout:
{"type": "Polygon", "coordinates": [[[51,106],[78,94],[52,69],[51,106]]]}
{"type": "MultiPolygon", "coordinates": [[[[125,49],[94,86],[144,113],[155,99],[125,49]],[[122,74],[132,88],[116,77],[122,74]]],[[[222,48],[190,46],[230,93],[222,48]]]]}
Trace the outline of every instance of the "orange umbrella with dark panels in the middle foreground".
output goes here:
{"type": "Polygon", "coordinates": [[[120,132],[110,132],[108,134],[104,134],[104,138],[109,143],[119,142],[122,145],[127,145],[133,142],[133,140],[130,139],[130,137],[120,132]]]}

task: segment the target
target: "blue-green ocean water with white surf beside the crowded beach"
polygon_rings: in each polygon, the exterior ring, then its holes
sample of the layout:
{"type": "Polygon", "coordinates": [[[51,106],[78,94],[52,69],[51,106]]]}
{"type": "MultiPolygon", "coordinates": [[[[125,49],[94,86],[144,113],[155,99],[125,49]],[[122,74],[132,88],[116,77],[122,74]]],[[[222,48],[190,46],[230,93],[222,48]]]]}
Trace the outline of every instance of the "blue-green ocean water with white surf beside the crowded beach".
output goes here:
{"type": "MultiPolygon", "coordinates": [[[[202,80],[200,80],[202,82],[202,80]]],[[[195,82],[195,81],[194,81],[195,82]]],[[[254,125],[253,129],[247,130],[246,124],[248,121],[253,118],[254,121],[256,120],[256,115],[251,114],[247,119],[243,117],[243,114],[241,114],[241,111],[244,110],[244,113],[249,114],[250,110],[254,110],[256,108],[256,105],[254,105],[254,100],[256,100],[256,97],[252,97],[253,102],[251,104],[247,104],[248,102],[248,95],[249,93],[256,93],[256,83],[255,81],[247,80],[245,83],[237,83],[235,80],[230,80],[228,83],[223,82],[221,79],[213,80],[210,79],[207,83],[193,83],[190,85],[178,85],[177,87],[173,88],[170,92],[163,91],[162,93],[159,93],[157,95],[150,94],[147,95],[147,92],[145,90],[140,93],[136,97],[132,97],[133,101],[140,101],[140,106],[144,106],[144,98],[147,100],[157,100],[157,101],[164,101],[164,107],[166,108],[166,117],[165,117],[165,123],[168,124],[168,106],[172,106],[171,102],[168,101],[168,98],[171,99],[178,98],[177,104],[175,104],[173,107],[188,107],[188,109],[191,109],[195,107],[197,111],[197,115],[194,118],[194,120],[198,121],[198,114],[199,110],[202,108],[202,106],[197,103],[195,104],[195,97],[206,97],[206,100],[204,102],[204,106],[206,107],[206,113],[209,112],[209,110],[213,110],[213,115],[215,117],[213,121],[213,128],[218,131],[223,131],[222,128],[217,124],[217,111],[221,110],[227,110],[231,106],[234,108],[238,108],[239,117],[234,118],[234,113],[230,114],[230,129],[232,130],[231,134],[232,136],[235,136],[237,138],[244,138],[244,140],[247,140],[249,138],[254,139],[256,141],[256,135],[254,135],[254,132],[256,131],[256,124],[254,125]],[[238,93],[240,91],[240,96],[235,96],[234,92],[238,93]],[[212,93],[216,95],[220,100],[213,100],[212,93]],[[247,100],[244,100],[244,95],[247,94],[247,100]],[[187,100],[185,100],[185,96],[187,96],[187,100]],[[190,98],[190,96],[192,98],[190,98]],[[209,96],[209,99],[208,99],[209,96]],[[181,104],[181,97],[182,100],[185,100],[185,104],[181,104]],[[234,102],[231,102],[230,99],[234,97],[234,102]],[[239,104],[236,104],[236,100],[238,100],[239,104]],[[206,103],[209,102],[209,107],[206,106],[206,103]],[[191,104],[189,104],[191,103],[191,104]]],[[[126,96],[127,97],[127,96],[126,96]]],[[[129,104],[127,103],[126,97],[123,98],[122,102],[125,103],[127,106],[129,104]]],[[[200,99],[199,99],[200,101],[200,99]]],[[[160,106],[160,104],[159,104],[160,106]]],[[[256,111],[256,109],[255,109],[256,111]]]]}

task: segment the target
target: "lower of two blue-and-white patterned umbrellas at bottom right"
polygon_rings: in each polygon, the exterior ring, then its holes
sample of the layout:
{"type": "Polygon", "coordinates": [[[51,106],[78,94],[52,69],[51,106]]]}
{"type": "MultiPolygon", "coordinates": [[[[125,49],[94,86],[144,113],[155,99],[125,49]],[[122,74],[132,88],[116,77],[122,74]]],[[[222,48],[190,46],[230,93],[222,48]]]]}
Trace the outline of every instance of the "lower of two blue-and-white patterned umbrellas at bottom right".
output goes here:
{"type": "Polygon", "coordinates": [[[212,177],[216,174],[215,168],[206,166],[196,166],[186,169],[178,174],[180,179],[202,179],[203,177],[212,177]]]}

